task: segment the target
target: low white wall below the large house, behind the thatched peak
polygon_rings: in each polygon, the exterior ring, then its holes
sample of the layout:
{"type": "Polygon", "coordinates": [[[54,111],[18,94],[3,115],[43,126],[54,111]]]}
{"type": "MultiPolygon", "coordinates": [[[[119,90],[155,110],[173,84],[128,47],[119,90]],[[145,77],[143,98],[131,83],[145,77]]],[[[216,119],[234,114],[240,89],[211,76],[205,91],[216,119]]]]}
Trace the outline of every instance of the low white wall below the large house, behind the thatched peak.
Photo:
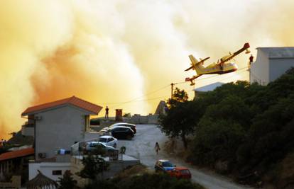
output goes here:
{"type": "Polygon", "coordinates": [[[66,170],[70,170],[70,163],[67,162],[42,162],[42,163],[35,163],[31,162],[28,164],[28,180],[31,181],[38,175],[38,170],[43,173],[43,175],[47,176],[48,178],[53,179],[54,181],[58,181],[58,178],[62,177],[63,173],[66,170]],[[62,173],[60,176],[53,175],[53,171],[61,170],[62,173]]]}

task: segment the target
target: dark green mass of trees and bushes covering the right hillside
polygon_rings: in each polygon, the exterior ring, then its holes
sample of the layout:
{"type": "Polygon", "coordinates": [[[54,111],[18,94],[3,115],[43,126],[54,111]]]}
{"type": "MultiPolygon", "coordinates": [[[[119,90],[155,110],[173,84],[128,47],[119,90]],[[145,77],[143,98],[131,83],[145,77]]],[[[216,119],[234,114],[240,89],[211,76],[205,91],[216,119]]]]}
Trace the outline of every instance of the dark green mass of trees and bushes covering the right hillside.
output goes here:
{"type": "Polygon", "coordinates": [[[169,136],[194,133],[188,157],[192,163],[233,173],[242,182],[284,186],[290,178],[283,177],[281,167],[293,165],[294,69],[268,86],[237,81],[194,101],[175,98],[160,123],[169,136]]]}

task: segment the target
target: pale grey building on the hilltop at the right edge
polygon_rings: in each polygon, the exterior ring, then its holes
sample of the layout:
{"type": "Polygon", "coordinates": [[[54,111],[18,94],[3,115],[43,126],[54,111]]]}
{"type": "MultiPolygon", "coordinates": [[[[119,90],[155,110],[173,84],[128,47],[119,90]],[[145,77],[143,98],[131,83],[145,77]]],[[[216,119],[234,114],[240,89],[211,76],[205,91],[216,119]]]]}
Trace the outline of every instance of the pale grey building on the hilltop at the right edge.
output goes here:
{"type": "Polygon", "coordinates": [[[250,84],[267,85],[294,67],[294,47],[258,47],[256,61],[250,65],[250,84]]]}

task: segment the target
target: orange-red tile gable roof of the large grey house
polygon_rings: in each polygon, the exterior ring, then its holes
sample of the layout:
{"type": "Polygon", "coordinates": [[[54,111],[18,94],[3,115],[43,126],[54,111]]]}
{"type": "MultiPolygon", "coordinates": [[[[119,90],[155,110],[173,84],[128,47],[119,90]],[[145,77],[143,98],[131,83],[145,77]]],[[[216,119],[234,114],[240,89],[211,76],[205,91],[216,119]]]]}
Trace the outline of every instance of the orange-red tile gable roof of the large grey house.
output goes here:
{"type": "Polygon", "coordinates": [[[94,113],[95,115],[97,115],[100,112],[100,110],[102,110],[102,107],[99,105],[96,105],[94,103],[89,103],[87,101],[82,100],[81,98],[77,98],[75,96],[72,96],[70,98],[65,98],[65,99],[62,99],[59,101],[54,101],[51,103],[44,103],[41,105],[32,106],[30,108],[27,108],[21,115],[22,116],[28,115],[28,114],[34,113],[36,111],[45,110],[48,108],[53,108],[55,106],[64,105],[64,104],[75,105],[79,108],[82,108],[82,109],[87,110],[91,113],[94,113]]]}

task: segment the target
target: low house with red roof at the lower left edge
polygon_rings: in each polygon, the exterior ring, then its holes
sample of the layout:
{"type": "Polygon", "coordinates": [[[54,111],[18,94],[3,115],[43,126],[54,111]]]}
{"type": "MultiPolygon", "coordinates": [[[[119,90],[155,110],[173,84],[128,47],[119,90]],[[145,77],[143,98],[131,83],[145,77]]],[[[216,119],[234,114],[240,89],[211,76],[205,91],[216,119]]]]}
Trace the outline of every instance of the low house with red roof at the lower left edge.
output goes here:
{"type": "Polygon", "coordinates": [[[0,154],[0,180],[11,175],[24,176],[28,174],[28,161],[34,159],[34,149],[26,148],[0,154]]]}

